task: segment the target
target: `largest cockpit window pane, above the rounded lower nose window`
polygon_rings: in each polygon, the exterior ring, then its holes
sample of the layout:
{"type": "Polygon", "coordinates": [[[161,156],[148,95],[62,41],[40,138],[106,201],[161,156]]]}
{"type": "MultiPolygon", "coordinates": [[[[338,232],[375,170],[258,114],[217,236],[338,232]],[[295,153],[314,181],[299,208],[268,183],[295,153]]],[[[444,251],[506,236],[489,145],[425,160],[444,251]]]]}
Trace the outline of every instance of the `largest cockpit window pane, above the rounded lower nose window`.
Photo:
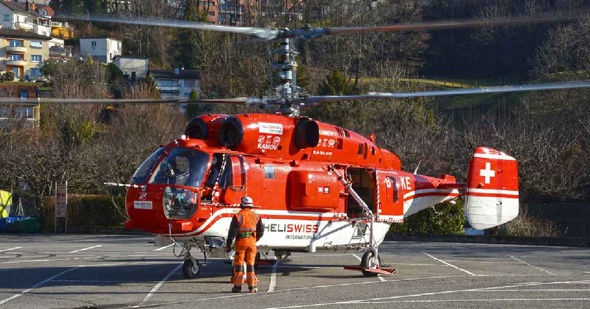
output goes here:
{"type": "Polygon", "coordinates": [[[208,164],[207,152],[176,147],[153,171],[149,183],[198,188],[201,186],[208,164]]]}

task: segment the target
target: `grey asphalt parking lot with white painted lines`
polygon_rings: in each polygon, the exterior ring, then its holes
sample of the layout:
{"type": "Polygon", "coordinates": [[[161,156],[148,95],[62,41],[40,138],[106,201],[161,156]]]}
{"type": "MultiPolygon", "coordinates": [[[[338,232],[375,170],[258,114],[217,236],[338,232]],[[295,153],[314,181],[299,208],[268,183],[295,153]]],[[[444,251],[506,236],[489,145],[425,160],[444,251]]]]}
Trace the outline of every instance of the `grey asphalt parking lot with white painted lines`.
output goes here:
{"type": "Polygon", "coordinates": [[[187,280],[151,240],[2,234],[0,307],[590,307],[590,248],[385,242],[398,273],[373,278],[342,268],[362,252],[293,253],[258,268],[260,293],[234,294],[224,259],[187,280]]]}

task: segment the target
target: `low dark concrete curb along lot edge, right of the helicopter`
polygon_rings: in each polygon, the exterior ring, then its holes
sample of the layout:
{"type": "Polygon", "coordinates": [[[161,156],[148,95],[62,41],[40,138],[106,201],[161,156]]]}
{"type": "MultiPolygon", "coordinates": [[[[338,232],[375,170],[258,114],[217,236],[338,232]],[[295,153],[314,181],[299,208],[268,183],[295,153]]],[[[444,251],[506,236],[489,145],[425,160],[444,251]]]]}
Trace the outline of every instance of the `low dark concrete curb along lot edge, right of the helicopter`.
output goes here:
{"type": "Polygon", "coordinates": [[[475,244],[510,244],[510,245],[552,245],[562,247],[590,247],[590,238],[572,237],[529,237],[499,235],[399,235],[388,233],[385,240],[391,241],[435,241],[435,242],[471,242],[475,244]]]}

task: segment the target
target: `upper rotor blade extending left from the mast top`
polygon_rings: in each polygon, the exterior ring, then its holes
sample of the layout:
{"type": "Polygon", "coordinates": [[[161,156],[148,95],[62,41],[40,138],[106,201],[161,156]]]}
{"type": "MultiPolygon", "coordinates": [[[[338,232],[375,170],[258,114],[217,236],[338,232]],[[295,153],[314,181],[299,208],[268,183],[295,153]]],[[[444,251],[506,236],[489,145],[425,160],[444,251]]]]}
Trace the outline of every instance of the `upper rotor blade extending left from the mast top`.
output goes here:
{"type": "Polygon", "coordinates": [[[188,28],[195,30],[217,31],[217,32],[232,32],[237,34],[254,35],[261,39],[274,39],[277,37],[278,30],[256,28],[256,27],[241,27],[241,26],[224,26],[204,24],[202,22],[185,21],[182,19],[163,19],[157,17],[142,17],[142,18],[121,18],[110,16],[71,16],[59,15],[55,18],[73,19],[78,21],[93,21],[93,22],[115,22],[117,24],[131,24],[144,26],[165,26],[175,28],[188,28]]]}

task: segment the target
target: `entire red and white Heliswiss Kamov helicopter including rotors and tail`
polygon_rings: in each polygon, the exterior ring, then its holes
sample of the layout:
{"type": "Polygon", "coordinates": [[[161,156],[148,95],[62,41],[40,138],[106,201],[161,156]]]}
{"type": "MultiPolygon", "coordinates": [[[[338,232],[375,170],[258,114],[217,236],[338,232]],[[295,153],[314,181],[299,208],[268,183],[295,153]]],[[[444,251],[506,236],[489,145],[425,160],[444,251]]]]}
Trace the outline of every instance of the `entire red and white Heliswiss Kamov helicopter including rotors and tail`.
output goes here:
{"type": "MultiPolygon", "coordinates": [[[[362,31],[415,31],[514,23],[549,22],[563,16],[493,21],[443,21],[358,28],[265,29],[195,22],[87,18],[90,21],[176,26],[234,32],[281,40],[274,51],[280,84],[273,95],[235,99],[97,100],[40,99],[60,103],[255,104],[277,106],[276,114],[202,115],[189,121],[182,137],[159,148],[137,169],[127,187],[127,228],[155,235],[155,245],[182,247],[183,274],[199,274],[194,250],[207,257],[223,248],[241,197],[254,199],[265,226],[259,252],[277,258],[290,252],[364,250],[360,270],[366,276],[395,274],[383,268],[378,247],[391,224],[435,204],[466,197],[467,220],[484,229],[503,224],[519,212],[517,161],[487,147],[475,149],[467,182],[451,175],[429,177],[401,170],[395,154],[346,128],[300,115],[301,108],[335,101],[535,91],[590,87],[590,82],[520,85],[450,91],[373,93],[349,96],[301,95],[290,39],[362,31]]],[[[22,101],[19,101],[22,102],[22,101]]],[[[262,262],[263,260],[261,260],[262,262]]]]}

